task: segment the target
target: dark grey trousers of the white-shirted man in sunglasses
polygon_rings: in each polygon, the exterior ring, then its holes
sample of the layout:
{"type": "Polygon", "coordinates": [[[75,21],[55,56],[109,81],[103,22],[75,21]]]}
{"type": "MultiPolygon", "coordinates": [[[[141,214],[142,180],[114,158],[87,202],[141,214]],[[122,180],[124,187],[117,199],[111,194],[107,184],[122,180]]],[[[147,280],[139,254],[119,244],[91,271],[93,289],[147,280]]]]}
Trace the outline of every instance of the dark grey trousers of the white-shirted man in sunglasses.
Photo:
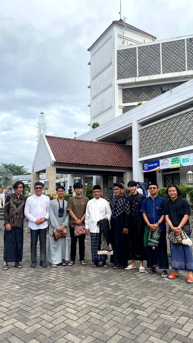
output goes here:
{"type": "Polygon", "coordinates": [[[40,261],[46,260],[46,232],[45,229],[30,229],[31,234],[31,261],[37,261],[37,240],[39,236],[40,261]]]}

